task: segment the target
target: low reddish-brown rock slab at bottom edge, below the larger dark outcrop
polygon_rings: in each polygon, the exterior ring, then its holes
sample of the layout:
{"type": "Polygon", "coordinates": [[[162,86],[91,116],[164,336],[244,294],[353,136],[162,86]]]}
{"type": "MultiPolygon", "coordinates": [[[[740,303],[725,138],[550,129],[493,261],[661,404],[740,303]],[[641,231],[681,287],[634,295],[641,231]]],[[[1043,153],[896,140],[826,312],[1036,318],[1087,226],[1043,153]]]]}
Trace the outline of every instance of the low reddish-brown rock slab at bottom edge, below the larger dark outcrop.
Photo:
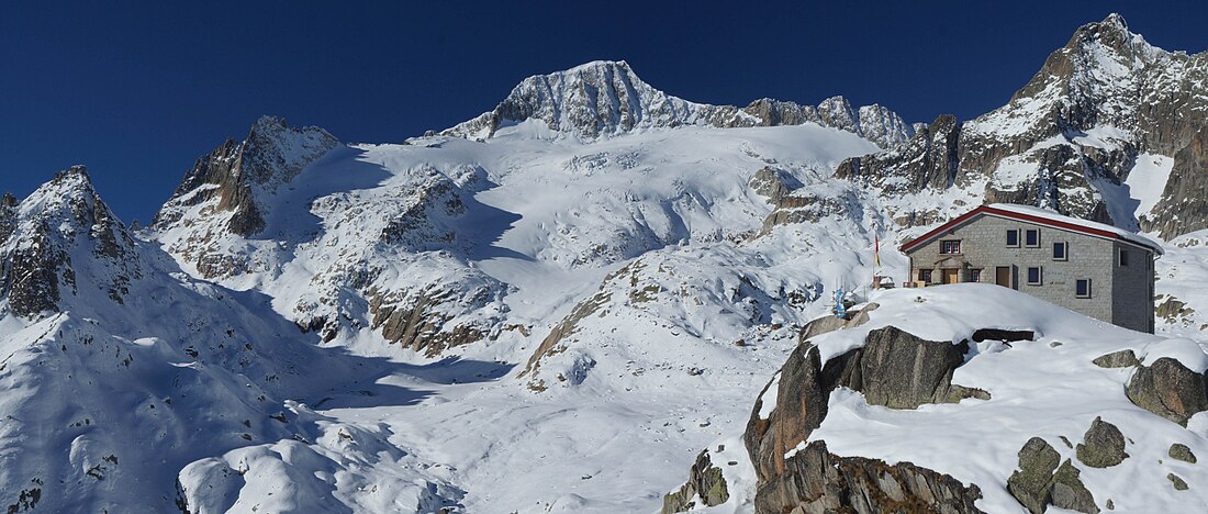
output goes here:
{"type": "Polygon", "coordinates": [[[931,469],[864,457],[840,457],[813,441],[785,461],[790,480],[761,486],[755,512],[980,513],[976,485],[931,469]]]}

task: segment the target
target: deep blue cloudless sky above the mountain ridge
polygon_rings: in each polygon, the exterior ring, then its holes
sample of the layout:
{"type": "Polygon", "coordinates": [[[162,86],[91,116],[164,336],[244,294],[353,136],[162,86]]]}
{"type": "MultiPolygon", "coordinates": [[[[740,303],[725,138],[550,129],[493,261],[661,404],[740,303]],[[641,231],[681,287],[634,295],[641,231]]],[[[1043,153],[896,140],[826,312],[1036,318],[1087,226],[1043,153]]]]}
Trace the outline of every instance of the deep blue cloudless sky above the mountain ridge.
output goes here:
{"type": "Polygon", "coordinates": [[[930,121],[1001,105],[1110,12],[1163,48],[1208,47],[1192,1],[650,4],[0,2],[0,191],[85,163],[123,220],[146,221],[262,114],[397,143],[594,59],[695,102],[844,94],[930,121]]]}

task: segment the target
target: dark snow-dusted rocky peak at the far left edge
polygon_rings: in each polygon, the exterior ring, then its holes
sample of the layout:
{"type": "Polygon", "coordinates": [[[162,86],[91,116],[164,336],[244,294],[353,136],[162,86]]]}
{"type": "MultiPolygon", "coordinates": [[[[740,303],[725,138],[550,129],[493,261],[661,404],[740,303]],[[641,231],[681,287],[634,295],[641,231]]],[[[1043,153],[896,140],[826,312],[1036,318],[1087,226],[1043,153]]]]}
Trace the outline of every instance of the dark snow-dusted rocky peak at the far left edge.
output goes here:
{"type": "Polygon", "coordinates": [[[19,203],[0,200],[0,291],[21,317],[57,312],[65,298],[93,291],[122,304],[143,275],[134,238],[82,166],[59,172],[19,203]],[[76,266],[87,270],[77,273],[76,266]]]}

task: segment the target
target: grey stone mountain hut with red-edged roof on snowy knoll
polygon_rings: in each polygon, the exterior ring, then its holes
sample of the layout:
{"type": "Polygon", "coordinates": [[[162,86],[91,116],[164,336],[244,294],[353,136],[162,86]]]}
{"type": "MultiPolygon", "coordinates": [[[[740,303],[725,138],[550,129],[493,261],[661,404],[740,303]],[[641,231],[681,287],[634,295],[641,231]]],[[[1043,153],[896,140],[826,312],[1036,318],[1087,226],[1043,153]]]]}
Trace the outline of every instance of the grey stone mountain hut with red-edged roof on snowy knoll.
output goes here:
{"type": "Polygon", "coordinates": [[[1035,207],[981,206],[901,247],[908,287],[985,282],[1154,331],[1152,239],[1035,207]]]}

